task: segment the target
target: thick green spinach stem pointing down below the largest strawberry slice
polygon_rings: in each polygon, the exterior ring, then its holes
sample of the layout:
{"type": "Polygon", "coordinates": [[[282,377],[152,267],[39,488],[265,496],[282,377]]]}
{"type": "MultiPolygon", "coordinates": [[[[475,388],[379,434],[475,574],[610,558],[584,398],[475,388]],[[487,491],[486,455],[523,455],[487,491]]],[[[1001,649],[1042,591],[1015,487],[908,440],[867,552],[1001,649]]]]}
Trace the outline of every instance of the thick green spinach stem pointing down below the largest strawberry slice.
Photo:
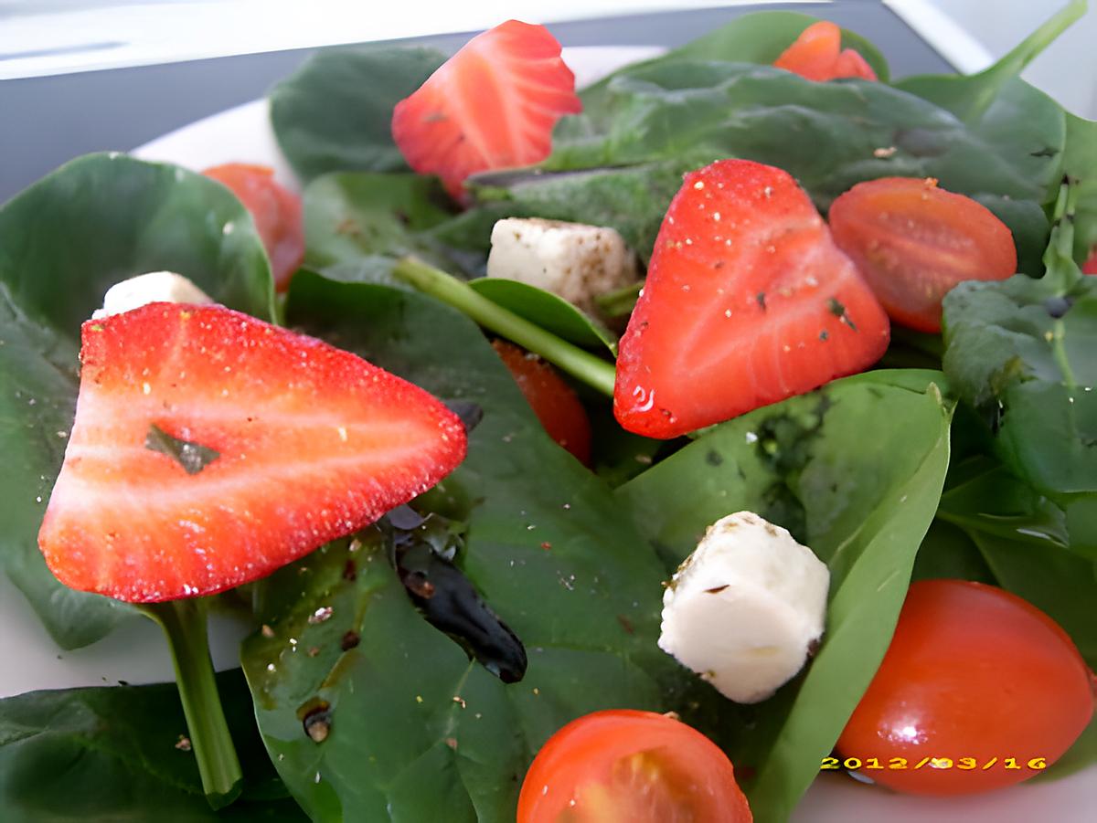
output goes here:
{"type": "Polygon", "coordinates": [[[213,809],[226,807],[239,797],[244,774],[217,694],[206,635],[205,601],[149,603],[142,610],[160,625],[168,638],[206,800],[213,809]]]}

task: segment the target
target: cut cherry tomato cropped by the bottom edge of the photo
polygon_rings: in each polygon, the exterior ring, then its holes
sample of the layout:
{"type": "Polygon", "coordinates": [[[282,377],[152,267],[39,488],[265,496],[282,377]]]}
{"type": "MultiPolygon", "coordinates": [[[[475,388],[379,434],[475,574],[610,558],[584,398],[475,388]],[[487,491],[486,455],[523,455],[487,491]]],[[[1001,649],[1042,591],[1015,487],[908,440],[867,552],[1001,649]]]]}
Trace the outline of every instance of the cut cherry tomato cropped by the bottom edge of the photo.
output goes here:
{"type": "Polygon", "coordinates": [[[701,732],[651,711],[596,711],[538,753],[518,823],[749,823],[727,756],[701,732]]]}

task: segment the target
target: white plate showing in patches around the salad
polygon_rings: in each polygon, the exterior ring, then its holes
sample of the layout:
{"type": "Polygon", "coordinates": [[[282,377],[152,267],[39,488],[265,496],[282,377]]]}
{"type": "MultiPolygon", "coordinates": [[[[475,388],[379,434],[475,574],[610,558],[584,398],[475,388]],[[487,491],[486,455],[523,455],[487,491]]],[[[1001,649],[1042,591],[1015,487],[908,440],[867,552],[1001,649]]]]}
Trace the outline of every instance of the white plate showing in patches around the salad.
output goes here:
{"type": "MultiPolygon", "coordinates": [[[[564,59],[581,87],[614,68],[652,57],[656,46],[565,48],[564,59]]],[[[132,152],[146,160],[201,170],[230,161],[275,169],[283,183],[297,187],[271,132],[265,100],[257,100],[184,126],[132,152]]],[[[218,668],[239,665],[245,627],[214,619],[211,645],[218,668]]],[[[0,575],[0,660],[20,661],[0,668],[0,697],[31,689],[157,683],[172,679],[167,647],[150,621],[135,619],[110,637],[75,652],[60,652],[14,586],[0,575]]],[[[915,823],[1082,823],[1097,809],[1097,767],[1063,780],[1027,784],[989,795],[936,799],[894,795],[844,775],[825,775],[792,815],[795,823],[883,821],[915,823]],[[1085,810],[1085,811],[1083,811],[1085,810]]]]}

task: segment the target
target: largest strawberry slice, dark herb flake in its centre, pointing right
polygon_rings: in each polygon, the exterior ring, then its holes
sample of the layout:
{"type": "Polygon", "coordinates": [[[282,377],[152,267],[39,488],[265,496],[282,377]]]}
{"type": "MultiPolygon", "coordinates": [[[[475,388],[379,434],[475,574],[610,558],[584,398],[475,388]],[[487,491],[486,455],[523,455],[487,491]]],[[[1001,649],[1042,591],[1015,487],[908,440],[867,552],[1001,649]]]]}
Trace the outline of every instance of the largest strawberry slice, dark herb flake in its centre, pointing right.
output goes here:
{"type": "Polygon", "coordinates": [[[212,594],[372,523],[449,473],[461,421],[365,361],[219,306],[83,324],[38,545],[123,601],[212,594]]]}

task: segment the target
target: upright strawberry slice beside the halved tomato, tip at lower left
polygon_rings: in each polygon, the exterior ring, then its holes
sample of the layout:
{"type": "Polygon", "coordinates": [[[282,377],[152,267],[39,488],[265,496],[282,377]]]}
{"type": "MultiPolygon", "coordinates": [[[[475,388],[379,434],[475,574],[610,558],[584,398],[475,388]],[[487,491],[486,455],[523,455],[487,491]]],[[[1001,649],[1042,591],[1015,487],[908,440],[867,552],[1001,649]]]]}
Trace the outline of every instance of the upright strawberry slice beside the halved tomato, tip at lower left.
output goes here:
{"type": "Polygon", "coordinates": [[[690,172],[621,339],[613,411],[675,437],[872,365],[887,316],[784,171],[690,172]]]}

